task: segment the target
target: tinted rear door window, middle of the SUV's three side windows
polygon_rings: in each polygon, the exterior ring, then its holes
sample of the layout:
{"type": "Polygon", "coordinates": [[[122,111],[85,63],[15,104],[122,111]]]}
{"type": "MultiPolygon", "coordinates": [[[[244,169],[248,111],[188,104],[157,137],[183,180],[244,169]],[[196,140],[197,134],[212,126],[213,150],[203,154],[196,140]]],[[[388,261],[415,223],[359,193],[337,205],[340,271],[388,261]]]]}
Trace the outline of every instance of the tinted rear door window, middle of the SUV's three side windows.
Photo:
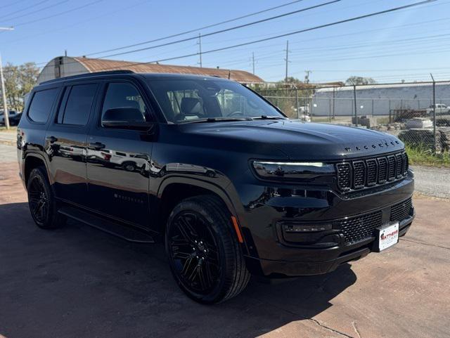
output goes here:
{"type": "Polygon", "coordinates": [[[72,89],[70,89],[70,93],[68,94],[67,103],[65,103],[63,118],[61,119],[59,116],[63,110],[60,109],[58,122],[62,121],[63,124],[84,126],[89,119],[89,113],[91,112],[91,106],[94,102],[96,89],[97,84],[79,84],[77,86],[72,86],[72,89]]]}

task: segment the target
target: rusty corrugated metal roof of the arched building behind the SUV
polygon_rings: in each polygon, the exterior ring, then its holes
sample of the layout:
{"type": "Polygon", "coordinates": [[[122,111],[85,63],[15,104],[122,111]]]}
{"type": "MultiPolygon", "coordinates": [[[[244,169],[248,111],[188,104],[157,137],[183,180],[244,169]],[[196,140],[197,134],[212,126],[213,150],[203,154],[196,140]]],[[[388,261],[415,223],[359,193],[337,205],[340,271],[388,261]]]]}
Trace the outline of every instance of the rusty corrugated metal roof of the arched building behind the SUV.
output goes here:
{"type": "Polygon", "coordinates": [[[98,58],[74,58],[90,72],[105,70],[132,70],[136,73],[175,73],[217,76],[237,82],[264,82],[260,77],[244,70],[226,70],[206,67],[189,67],[177,65],[159,65],[156,63],[134,63],[131,61],[106,60],[98,58]]]}

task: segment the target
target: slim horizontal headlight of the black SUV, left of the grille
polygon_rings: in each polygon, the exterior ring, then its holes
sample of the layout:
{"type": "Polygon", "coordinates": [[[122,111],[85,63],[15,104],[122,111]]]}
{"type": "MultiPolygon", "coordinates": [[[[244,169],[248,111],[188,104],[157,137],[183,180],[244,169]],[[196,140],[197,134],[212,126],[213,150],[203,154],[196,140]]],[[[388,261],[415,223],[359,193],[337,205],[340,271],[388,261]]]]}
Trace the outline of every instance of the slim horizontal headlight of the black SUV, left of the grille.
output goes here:
{"type": "Polygon", "coordinates": [[[335,166],[323,162],[266,162],[253,161],[253,168],[261,178],[313,178],[335,173],[335,166]]]}

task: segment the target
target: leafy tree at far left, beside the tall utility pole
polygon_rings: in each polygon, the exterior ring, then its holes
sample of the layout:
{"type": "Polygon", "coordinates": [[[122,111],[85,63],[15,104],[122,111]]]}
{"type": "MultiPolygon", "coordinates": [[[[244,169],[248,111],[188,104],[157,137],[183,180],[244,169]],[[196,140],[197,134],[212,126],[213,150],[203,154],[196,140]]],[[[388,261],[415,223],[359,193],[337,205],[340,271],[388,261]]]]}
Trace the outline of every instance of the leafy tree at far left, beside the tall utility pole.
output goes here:
{"type": "Polygon", "coordinates": [[[30,93],[37,83],[39,68],[34,63],[13,65],[7,63],[4,67],[6,100],[8,109],[22,111],[24,108],[24,97],[30,93]]]}

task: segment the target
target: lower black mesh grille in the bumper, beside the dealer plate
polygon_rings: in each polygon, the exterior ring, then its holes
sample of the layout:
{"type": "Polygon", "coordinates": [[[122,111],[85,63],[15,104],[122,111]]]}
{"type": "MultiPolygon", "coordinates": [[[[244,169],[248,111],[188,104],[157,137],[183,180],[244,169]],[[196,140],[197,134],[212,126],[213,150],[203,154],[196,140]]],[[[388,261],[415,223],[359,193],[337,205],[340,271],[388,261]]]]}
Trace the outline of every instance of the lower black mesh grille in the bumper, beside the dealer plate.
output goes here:
{"type": "MultiPolygon", "coordinates": [[[[413,204],[411,198],[391,207],[391,222],[400,222],[409,219],[413,204]]],[[[361,216],[348,217],[333,222],[333,228],[342,230],[345,242],[352,244],[360,240],[374,237],[375,228],[383,225],[383,212],[371,212],[361,216]]]]}

